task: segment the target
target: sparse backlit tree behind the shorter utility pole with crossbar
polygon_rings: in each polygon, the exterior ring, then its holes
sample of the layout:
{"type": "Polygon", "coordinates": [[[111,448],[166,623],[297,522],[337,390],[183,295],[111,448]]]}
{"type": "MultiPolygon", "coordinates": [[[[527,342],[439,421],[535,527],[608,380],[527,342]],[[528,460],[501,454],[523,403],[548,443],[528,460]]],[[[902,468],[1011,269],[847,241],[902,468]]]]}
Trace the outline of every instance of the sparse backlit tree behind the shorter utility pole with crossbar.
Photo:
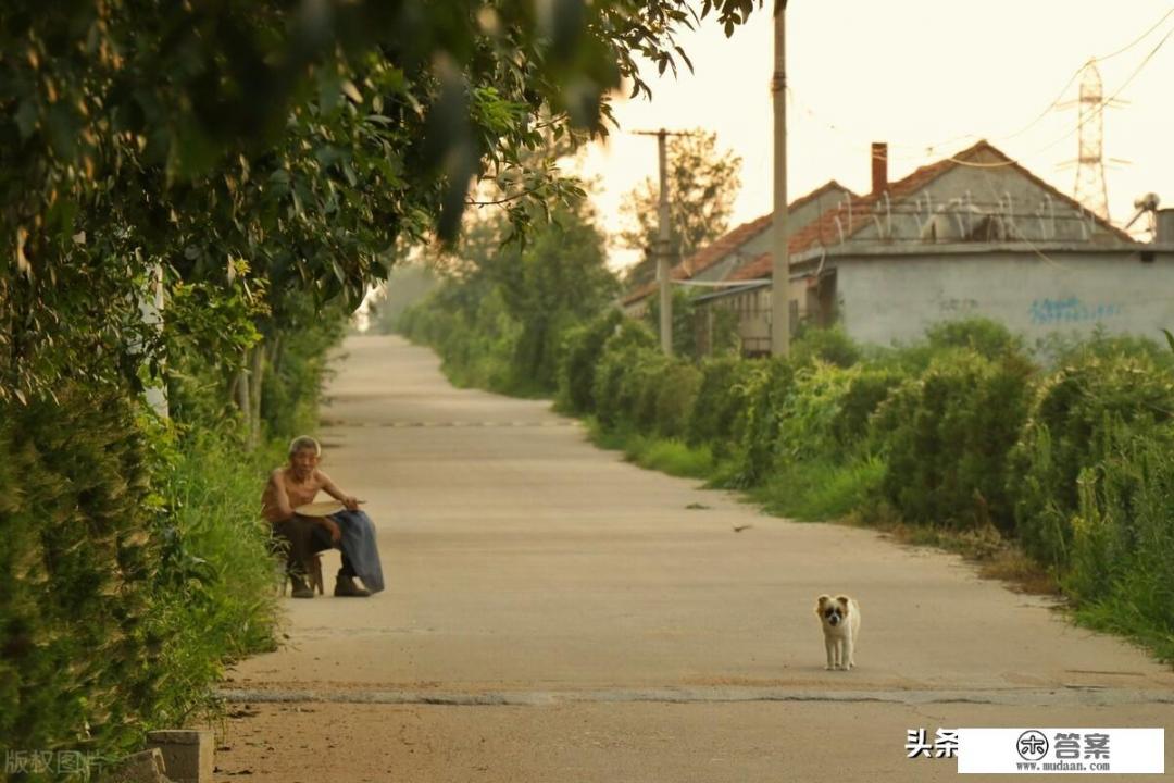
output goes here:
{"type": "MultiPolygon", "coordinates": [[[[742,158],[717,146],[717,134],[695,129],[669,136],[669,222],[673,263],[688,258],[726,234],[738,188],[742,158]]],[[[628,271],[629,283],[647,283],[656,276],[657,204],[660,185],[652,177],[632,190],[620,207],[627,228],[620,243],[645,256],[628,271]]]]}

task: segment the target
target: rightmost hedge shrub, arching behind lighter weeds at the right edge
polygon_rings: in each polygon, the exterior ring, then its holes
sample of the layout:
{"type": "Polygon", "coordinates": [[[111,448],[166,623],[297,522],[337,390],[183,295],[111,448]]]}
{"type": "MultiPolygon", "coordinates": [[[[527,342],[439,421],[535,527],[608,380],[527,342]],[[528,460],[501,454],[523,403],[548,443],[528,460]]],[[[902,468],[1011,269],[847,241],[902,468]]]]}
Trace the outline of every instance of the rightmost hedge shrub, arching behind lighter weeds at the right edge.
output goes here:
{"type": "Polygon", "coordinates": [[[1011,454],[1008,492],[1025,548],[1062,569],[1081,472],[1108,454],[1111,432],[1145,433],[1168,423],[1172,412],[1174,373],[1145,355],[1082,352],[1048,376],[1011,454]]]}

